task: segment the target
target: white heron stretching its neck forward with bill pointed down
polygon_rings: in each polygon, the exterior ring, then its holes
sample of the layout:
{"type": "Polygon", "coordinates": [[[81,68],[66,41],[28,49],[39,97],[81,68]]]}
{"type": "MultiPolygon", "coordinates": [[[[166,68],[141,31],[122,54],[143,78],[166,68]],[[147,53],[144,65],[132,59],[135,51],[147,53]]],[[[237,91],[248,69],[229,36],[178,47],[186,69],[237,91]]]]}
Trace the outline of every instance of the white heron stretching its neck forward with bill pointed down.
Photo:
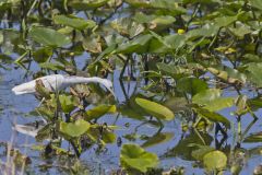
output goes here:
{"type": "Polygon", "coordinates": [[[36,80],[29,81],[27,83],[16,85],[12,89],[12,91],[14,92],[15,95],[35,93],[37,80],[40,80],[44,86],[51,92],[63,90],[68,86],[80,84],[80,83],[100,83],[115,96],[115,93],[112,91],[112,83],[107,79],[102,79],[98,77],[84,78],[84,77],[63,75],[63,74],[51,74],[51,75],[41,77],[36,80]]]}

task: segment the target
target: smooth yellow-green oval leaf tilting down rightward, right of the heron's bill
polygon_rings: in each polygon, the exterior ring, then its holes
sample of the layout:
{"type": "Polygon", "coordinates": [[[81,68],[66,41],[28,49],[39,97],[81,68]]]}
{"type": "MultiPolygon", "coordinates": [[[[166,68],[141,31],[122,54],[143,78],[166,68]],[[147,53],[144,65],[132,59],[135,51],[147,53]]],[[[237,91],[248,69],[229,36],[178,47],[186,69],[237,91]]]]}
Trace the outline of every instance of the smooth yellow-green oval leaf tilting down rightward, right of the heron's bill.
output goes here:
{"type": "Polygon", "coordinates": [[[175,118],[175,115],[170,109],[158,103],[139,97],[135,98],[135,103],[146,113],[158,119],[172,120],[175,118]]]}

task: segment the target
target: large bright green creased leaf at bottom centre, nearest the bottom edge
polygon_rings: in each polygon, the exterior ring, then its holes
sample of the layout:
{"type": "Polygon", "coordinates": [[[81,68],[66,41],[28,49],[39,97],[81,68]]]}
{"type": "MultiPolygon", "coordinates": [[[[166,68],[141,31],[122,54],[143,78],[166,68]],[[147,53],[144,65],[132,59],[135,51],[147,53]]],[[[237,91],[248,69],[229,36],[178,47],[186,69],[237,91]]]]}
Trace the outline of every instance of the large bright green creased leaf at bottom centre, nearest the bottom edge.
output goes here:
{"type": "Polygon", "coordinates": [[[126,170],[131,167],[145,173],[147,168],[155,167],[158,164],[158,158],[154,153],[146,152],[138,144],[123,144],[120,162],[126,170]]]}

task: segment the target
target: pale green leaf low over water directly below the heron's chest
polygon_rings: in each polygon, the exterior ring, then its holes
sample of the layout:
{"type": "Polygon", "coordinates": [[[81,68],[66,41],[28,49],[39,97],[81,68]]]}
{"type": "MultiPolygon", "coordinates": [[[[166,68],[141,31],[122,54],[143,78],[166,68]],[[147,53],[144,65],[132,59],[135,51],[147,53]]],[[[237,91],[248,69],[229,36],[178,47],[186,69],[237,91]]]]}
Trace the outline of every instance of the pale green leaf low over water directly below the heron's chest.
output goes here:
{"type": "Polygon", "coordinates": [[[60,122],[60,131],[70,137],[80,137],[90,129],[90,122],[79,119],[75,122],[60,122]]]}

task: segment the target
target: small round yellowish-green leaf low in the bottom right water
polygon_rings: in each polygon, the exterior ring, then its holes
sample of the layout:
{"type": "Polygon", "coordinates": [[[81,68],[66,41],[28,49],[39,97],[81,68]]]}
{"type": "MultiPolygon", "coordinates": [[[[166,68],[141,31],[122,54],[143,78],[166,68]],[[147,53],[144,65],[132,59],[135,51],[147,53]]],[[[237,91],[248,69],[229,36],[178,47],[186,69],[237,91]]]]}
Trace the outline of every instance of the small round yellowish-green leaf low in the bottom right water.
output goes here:
{"type": "Polygon", "coordinates": [[[222,170],[227,165],[227,156],[221,151],[212,151],[204,155],[203,163],[206,170],[222,170]]]}

